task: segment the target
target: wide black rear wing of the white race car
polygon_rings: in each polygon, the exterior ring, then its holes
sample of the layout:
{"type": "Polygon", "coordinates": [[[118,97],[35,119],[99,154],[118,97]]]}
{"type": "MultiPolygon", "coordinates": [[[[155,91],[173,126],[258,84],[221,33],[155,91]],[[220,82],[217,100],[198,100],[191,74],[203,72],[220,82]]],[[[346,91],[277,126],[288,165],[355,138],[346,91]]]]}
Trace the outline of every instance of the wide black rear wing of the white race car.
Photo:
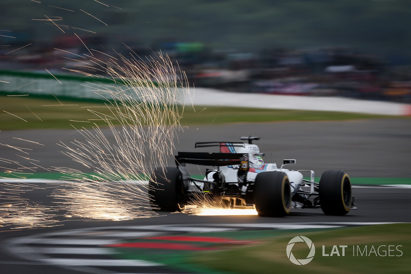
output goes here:
{"type": "Polygon", "coordinates": [[[177,165],[191,163],[193,165],[222,167],[240,165],[241,161],[248,159],[248,155],[242,153],[178,152],[175,158],[177,165]]]}

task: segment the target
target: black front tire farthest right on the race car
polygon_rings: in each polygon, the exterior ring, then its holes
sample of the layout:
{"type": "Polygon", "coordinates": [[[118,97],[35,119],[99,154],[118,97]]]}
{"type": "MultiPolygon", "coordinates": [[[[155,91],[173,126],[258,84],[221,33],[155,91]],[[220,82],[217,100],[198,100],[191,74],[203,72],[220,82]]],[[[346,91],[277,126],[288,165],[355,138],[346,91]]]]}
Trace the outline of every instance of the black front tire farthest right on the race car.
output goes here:
{"type": "Polygon", "coordinates": [[[345,215],[352,202],[351,181],[342,170],[325,171],[320,178],[319,198],[326,215],[345,215]]]}

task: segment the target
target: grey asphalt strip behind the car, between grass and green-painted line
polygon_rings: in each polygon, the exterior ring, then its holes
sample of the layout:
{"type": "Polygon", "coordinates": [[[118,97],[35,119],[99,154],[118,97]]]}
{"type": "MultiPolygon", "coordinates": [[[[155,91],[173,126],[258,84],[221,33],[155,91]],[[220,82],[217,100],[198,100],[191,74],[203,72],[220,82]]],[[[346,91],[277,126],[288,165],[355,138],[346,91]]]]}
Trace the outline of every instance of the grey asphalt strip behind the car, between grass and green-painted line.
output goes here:
{"type": "MultiPolygon", "coordinates": [[[[347,171],[351,177],[409,178],[410,125],[409,118],[190,125],[178,132],[175,151],[195,151],[195,142],[240,141],[241,136],[252,135],[260,137],[255,143],[259,145],[260,152],[265,153],[265,161],[276,162],[277,166],[283,159],[296,159],[292,169],[314,170],[316,176],[325,170],[339,169],[347,171]]],[[[39,160],[38,165],[47,169],[70,167],[92,172],[63,155],[62,147],[58,145],[60,142],[69,144],[74,139],[82,141],[82,138],[75,130],[6,131],[0,134],[1,143],[30,149],[26,150],[29,155],[4,145],[0,146],[0,154],[1,158],[23,165],[25,159],[21,155],[39,160]]],[[[111,143],[115,142],[109,134],[106,138],[111,143]]],[[[216,152],[216,148],[209,151],[216,152]]],[[[174,166],[174,160],[170,158],[168,164],[174,166]]],[[[7,168],[7,163],[1,166],[7,168]]],[[[0,172],[4,170],[0,168],[0,172]]],[[[45,171],[38,169],[37,172],[45,171]]],[[[194,172],[199,173],[198,169],[194,172]]]]}

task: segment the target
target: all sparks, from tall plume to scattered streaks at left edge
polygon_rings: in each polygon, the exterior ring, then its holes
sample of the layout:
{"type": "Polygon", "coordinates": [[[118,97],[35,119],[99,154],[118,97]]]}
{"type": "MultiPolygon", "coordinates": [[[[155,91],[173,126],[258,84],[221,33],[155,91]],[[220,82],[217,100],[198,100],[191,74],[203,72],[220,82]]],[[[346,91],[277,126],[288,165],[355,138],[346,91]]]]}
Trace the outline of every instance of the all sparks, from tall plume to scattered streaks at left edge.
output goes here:
{"type": "MultiPolygon", "coordinates": [[[[65,210],[67,217],[92,220],[120,221],[158,215],[152,210],[151,198],[147,195],[146,174],[152,173],[152,167],[165,166],[173,154],[176,132],[181,129],[179,121],[184,109],[183,98],[189,93],[186,76],[162,54],[146,59],[132,54],[130,60],[121,55],[103,56],[108,61],[91,55],[79,61],[79,66],[86,62],[90,67],[95,66],[105,72],[105,78],[113,81],[113,85],[98,81],[87,83],[101,96],[106,106],[104,109],[87,108],[90,117],[81,122],[104,121],[105,130],[94,124],[92,129],[77,129],[81,140],[59,143],[64,155],[96,175],[90,178],[82,171],[66,167],[45,169],[28,155],[31,149],[0,144],[24,153],[25,156],[16,156],[29,162],[24,165],[0,159],[13,165],[12,169],[8,168],[8,177],[16,181],[11,194],[0,193],[0,198],[11,200],[10,206],[0,209],[2,225],[12,224],[18,228],[52,226],[57,222],[53,214],[55,210],[65,210]],[[115,126],[114,121],[120,126],[115,126]],[[55,187],[51,195],[53,207],[33,205],[20,196],[29,191],[21,186],[20,180],[26,177],[27,172],[34,173],[39,169],[57,171],[63,177],[64,187],[55,187]]],[[[57,105],[64,105],[57,97],[55,99],[57,105]]],[[[14,139],[41,145],[23,138],[14,139]]]]}

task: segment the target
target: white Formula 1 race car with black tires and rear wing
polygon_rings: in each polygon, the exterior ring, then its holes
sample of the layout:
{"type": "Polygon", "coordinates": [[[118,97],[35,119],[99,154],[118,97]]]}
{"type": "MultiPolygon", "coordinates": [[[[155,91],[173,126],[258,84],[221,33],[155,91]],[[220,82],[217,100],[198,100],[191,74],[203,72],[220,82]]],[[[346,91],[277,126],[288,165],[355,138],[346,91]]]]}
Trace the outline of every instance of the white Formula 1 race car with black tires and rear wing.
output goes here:
{"type": "Polygon", "coordinates": [[[264,163],[259,137],[244,142],[197,142],[195,148],[219,147],[218,153],[178,152],[177,167],[157,168],[148,181],[154,210],[174,212],[194,197],[207,196],[221,207],[255,207],[260,216],[285,216],[291,208],[321,208],[327,215],[345,215],[354,207],[351,182],[342,170],[325,171],[319,182],[312,170],[288,170],[295,163],[264,163]],[[186,164],[209,166],[205,177],[191,176],[186,164]],[[303,174],[306,174],[306,178],[303,174]]]}

